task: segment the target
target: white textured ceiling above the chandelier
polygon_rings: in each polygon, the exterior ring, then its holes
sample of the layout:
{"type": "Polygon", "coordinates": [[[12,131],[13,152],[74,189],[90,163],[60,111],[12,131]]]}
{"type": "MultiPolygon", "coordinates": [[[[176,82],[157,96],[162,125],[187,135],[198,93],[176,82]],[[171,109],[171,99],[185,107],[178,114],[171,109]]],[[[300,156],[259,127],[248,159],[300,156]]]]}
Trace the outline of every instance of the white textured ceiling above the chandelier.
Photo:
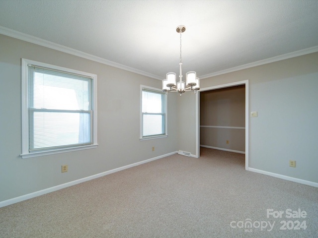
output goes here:
{"type": "Polygon", "coordinates": [[[183,75],[318,51],[318,0],[0,0],[0,33],[24,33],[158,79],[179,73],[178,25],[186,26],[183,75]]]}

